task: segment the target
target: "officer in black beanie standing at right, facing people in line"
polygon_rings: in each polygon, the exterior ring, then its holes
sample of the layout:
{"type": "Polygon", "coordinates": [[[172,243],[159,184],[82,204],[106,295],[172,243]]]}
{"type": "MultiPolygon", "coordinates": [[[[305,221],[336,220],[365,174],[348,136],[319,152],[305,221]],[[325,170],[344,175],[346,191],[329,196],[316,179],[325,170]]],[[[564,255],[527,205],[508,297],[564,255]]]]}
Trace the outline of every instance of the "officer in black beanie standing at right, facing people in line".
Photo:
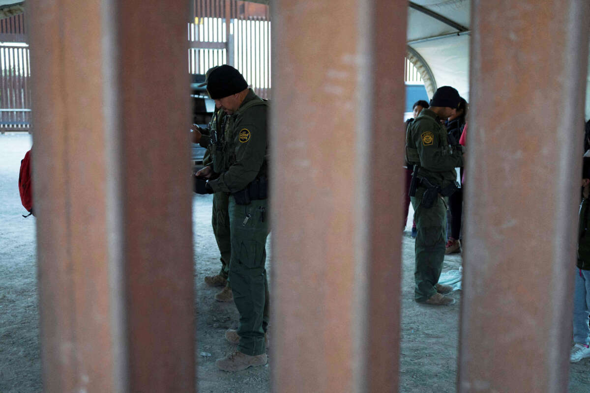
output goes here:
{"type": "Polygon", "coordinates": [[[418,227],[414,298],[431,305],[455,302],[443,295],[453,288],[439,284],[438,279],[445,252],[447,198],[457,189],[455,167],[463,166],[463,151],[449,146],[447,130],[440,120],[453,114],[459,101],[454,88],[438,88],[430,108],[423,109],[406,131],[406,158],[414,164],[410,199],[418,227]]]}

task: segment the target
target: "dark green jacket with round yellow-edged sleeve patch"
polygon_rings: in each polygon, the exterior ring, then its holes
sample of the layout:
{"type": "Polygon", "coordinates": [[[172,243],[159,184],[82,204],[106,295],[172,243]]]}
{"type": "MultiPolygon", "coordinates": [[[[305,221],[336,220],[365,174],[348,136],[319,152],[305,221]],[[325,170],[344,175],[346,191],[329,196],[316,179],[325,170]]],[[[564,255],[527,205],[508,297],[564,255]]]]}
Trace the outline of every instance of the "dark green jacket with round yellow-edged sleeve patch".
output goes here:
{"type": "Polygon", "coordinates": [[[267,175],[267,104],[250,89],[240,108],[226,115],[225,141],[215,150],[213,170],[219,177],[210,180],[213,191],[235,193],[258,176],[267,175]],[[220,154],[222,160],[217,160],[220,154]]]}

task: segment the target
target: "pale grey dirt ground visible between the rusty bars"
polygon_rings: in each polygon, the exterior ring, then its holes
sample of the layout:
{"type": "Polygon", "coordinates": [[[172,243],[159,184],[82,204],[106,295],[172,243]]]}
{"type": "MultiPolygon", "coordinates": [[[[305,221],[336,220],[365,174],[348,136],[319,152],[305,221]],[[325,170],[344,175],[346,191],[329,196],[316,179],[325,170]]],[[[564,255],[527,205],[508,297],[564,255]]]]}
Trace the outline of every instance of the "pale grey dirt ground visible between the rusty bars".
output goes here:
{"type": "MultiPolygon", "coordinates": [[[[18,169],[31,146],[27,134],[0,135],[0,393],[42,391],[39,318],[35,267],[35,219],[25,213],[18,196],[18,169]]],[[[224,339],[225,329],[235,328],[238,313],[233,303],[213,299],[217,288],[204,284],[205,275],[217,273],[218,252],[211,232],[211,196],[195,196],[195,309],[196,358],[199,392],[268,392],[267,366],[229,374],[215,368],[215,359],[234,349],[224,339]]],[[[411,214],[409,218],[411,223],[411,214]]],[[[267,268],[270,272],[270,247],[267,268]]],[[[455,392],[458,318],[461,291],[450,307],[419,305],[412,300],[414,240],[402,236],[402,336],[400,387],[402,393],[455,392]],[[436,321],[436,323],[432,323],[436,321]]],[[[461,256],[445,257],[444,272],[456,272],[461,256]]],[[[272,282],[271,293],[272,293],[272,282]]],[[[272,336],[270,345],[272,346],[272,336]]],[[[570,368],[569,392],[590,392],[590,359],[570,368]]],[[[330,392],[331,393],[331,392],[330,392]]],[[[511,392],[513,393],[513,392],[511,392]]]]}

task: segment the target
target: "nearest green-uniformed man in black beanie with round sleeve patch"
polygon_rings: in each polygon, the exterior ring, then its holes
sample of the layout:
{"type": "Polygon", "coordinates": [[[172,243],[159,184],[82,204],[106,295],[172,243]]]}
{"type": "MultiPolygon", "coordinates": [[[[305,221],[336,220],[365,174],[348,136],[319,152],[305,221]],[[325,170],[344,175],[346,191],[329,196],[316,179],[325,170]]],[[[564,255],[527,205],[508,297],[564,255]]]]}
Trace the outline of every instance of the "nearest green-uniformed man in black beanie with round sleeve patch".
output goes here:
{"type": "Polygon", "coordinates": [[[228,280],[240,313],[240,326],[237,331],[225,332],[225,338],[237,343],[238,351],[218,359],[215,365],[224,371],[239,371],[267,362],[267,101],[248,89],[244,77],[230,65],[211,71],[207,91],[226,115],[224,131],[212,135],[212,165],[197,173],[209,180],[196,179],[195,191],[229,196],[228,280]]]}

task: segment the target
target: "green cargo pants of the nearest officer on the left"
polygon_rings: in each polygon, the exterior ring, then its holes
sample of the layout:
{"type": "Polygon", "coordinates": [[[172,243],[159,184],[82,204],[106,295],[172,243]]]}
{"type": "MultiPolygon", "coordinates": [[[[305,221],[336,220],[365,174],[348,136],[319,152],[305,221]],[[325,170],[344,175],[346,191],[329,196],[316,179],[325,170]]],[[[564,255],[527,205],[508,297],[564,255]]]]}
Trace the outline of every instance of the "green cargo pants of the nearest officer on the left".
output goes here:
{"type": "Polygon", "coordinates": [[[230,285],[240,313],[238,349],[260,355],[268,325],[268,281],[266,278],[267,200],[236,204],[230,197],[231,261],[230,285]]]}

